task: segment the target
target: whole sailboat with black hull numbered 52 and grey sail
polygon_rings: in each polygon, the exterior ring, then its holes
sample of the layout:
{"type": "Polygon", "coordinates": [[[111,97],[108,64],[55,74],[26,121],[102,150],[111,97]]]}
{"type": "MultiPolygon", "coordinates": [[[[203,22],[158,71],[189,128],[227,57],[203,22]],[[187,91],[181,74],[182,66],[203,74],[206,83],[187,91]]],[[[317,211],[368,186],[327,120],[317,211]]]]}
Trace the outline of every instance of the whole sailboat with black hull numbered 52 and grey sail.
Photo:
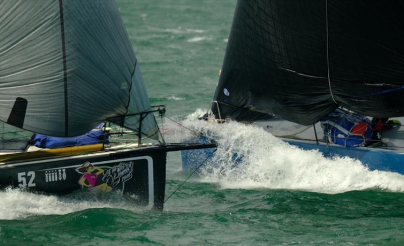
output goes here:
{"type": "Polygon", "coordinates": [[[117,191],[162,209],[167,152],[215,146],[164,142],[154,116],[164,106],[150,106],[114,1],[1,0],[0,35],[3,130],[7,124],[69,138],[107,121],[137,134],[134,143],[112,143],[105,125],[104,139],[94,144],[27,150],[29,139],[2,133],[0,187],[117,191]]]}

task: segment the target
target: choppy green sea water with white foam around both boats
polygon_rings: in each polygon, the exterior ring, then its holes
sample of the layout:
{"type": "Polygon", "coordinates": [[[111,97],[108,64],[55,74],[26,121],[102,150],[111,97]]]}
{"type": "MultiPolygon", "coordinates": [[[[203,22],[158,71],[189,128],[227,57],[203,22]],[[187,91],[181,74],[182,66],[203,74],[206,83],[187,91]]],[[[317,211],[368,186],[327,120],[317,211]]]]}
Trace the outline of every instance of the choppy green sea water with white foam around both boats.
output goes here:
{"type": "MultiPolygon", "coordinates": [[[[172,117],[206,110],[236,2],[117,4],[151,103],[172,117]]],[[[226,146],[214,160],[221,167],[191,176],[163,212],[119,196],[0,191],[0,245],[404,245],[404,176],[229,126],[212,129],[226,146]],[[234,151],[248,153],[242,169],[230,168],[234,151]]],[[[166,197],[188,175],[179,153],[170,153],[166,197]]]]}

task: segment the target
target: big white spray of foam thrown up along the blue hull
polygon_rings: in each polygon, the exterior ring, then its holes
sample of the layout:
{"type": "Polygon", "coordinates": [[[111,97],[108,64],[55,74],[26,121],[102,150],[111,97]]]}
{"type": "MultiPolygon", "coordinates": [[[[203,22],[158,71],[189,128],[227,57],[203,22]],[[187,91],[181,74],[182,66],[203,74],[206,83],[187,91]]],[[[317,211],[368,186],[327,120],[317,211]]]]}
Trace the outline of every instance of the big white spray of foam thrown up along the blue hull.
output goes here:
{"type": "Polygon", "coordinates": [[[209,131],[219,144],[212,163],[202,170],[202,181],[217,182],[226,189],[290,189],[328,194],[366,189],[404,192],[404,175],[371,171],[359,160],[348,157],[325,158],[316,150],[291,146],[259,127],[238,122],[210,124],[192,117],[195,118],[190,115],[183,125],[209,131]],[[236,167],[234,153],[244,156],[236,167]]]}

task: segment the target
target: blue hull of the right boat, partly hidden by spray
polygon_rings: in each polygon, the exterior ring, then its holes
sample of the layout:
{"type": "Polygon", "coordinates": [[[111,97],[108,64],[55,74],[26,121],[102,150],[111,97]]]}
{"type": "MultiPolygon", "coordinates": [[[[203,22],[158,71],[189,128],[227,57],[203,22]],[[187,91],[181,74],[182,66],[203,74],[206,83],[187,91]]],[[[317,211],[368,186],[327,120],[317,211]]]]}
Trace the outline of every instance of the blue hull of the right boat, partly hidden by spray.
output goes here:
{"type": "MultiPolygon", "coordinates": [[[[327,149],[326,145],[323,143],[316,144],[308,141],[295,141],[290,139],[282,140],[302,149],[317,149],[323,153],[325,157],[339,155],[358,159],[363,164],[367,165],[370,170],[398,172],[404,175],[404,153],[375,148],[344,148],[338,145],[329,145],[327,149]]],[[[208,139],[199,138],[199,141],[207,142],[208,139]]],[[[182,169],[194,170],[213,151],[214,149],[182,151],[182,169]]],[[[237,153],[234,153],[233,158],[234,161],[237,162],[242,157],[237,157],[237,153]]]]}

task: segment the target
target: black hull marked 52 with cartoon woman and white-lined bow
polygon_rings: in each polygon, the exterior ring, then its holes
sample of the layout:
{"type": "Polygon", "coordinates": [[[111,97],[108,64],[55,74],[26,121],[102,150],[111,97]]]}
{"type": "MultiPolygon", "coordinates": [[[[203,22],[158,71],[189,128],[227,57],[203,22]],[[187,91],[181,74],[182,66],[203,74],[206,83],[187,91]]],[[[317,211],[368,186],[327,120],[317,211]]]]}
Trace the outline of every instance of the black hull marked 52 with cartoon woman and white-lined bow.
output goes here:
{"type": "Polygon", "coordinates": [[[165,148],[157,147],[6,163],[0,165],[0,187],[101,196],[118,190],[136,205],[162,210],[166,156],[165,148]],[[83,166],[87,162],[92,170],[83,166]]]}

